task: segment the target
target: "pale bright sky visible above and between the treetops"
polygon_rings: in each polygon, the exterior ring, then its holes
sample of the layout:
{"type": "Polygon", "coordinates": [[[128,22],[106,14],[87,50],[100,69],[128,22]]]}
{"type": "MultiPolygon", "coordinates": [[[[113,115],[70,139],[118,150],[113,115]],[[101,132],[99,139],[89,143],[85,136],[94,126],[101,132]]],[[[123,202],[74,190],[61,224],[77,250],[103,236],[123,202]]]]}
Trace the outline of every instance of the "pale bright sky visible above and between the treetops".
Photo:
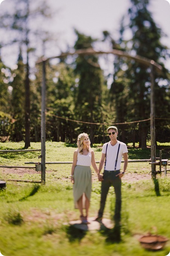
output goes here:
{"type": "MultiPolygon", "coordinates": [[[[2,2],[0,9],[7,8],[7,1],[0,1],[2,2]]],[[[35,1],[41,3],[41,0],[35,1]]],[[[68,45],[73,47],[76,40],[74,28],[87,36],[100,39],[102,39],[102,31],[108,30],[113,38],[117,39],[120,20],[130,7],[130,0],[48,0],[47,2],[52,9],[57,10],[50,29],[58,38],[55,48],[47,49],[47,57],[57,56],[61,51],[67,50],[68,45]]],[[[167,34],[167,38],[162,38],[161,43],[170,48],[170,0],[150,0],[149,11],[155,23],[167,34]]],[[[129,35],[126,36],[128,38],[129,35]]],[[[99,44],[97,47],[96,50],[103,50],[101,48],[103,45],[99,44]]],[[[104,50],[110,50],[109,45],[104,47],[104,50]]],[[[11,55],[9,50],[8,52],[1,51],[1,55],[5,64],[11,65],[16,62],[18,56],[13,54],[15,57],[8,57],[11,55]]],[[[170,60],[166,61],[165,65],[170,70],[170,60]]]]}

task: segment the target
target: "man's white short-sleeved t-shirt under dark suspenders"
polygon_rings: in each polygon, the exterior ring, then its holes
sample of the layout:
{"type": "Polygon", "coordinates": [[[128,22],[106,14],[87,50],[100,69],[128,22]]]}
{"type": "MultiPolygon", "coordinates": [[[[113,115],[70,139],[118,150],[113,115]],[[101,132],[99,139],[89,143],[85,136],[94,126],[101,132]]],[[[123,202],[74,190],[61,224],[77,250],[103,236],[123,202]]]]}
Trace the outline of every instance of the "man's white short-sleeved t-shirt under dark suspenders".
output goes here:
{"type": "Polygon", "coordinates": [[[116,170],[120,170],[120,164],[124,153],[127,153],[127,146],[125,143],[117,141],[116,145],[112,146],[110,142],[108,143],[108,148],[106,152],[106,145],[105,143],[102,148],[102,153],[106,154],[106,166],[105,170],[107,171],[114,171],[115,170],[115,162],[117,157],[118,145],[120,144],[119,154],[117,158],[117,165],[116,170]]]}

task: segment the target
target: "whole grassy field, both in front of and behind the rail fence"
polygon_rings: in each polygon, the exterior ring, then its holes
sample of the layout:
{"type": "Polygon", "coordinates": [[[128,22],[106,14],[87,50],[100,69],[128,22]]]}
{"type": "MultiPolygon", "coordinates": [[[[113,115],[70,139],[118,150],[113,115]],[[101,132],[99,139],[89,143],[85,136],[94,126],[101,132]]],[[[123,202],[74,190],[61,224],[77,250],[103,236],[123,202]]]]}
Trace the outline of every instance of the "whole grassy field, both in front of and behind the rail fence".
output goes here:
{"type": "MultiPolygon", "coordinates": [[[[1,149],[22,149],[24,143],[0,143],[1,149]]],[[[170,145],[159,145],[163,158],[169,158],[170,145]]],[[[40,143],[31,143],[39,149],[40,143]]],[[[101,157],[101,145],[94,146],[96,161],[101,157]]],[[[46,161],[72,161],[75,147],[67,143],[46,143],[46,161]]],[[[129,148],[130,159],[148,159],[150,149],[129,148]],[[136,157],[136,158],[135,158],[136,157]]],[[[40,152],[0,154],[0,164],[24,165],[37,161],[40,152]],[[30,154],[31,153],[31,154],[30,154]]],[[[159,149],[158,155],[159,156],[159,149]]],[[[151,171],[148,163],[129,163],[127,172],[145,174],[151,171]]],[[[122,183],[121,228],[85,232],[69,226],[68,221],[79,218],[74,209],[70,164],[47,165],[46,185],[7,181],[0,190],[0,251],[5,256],[163,256],[169,254],[170,241],[160,251],[143,249],[138,241],[142,234],[157,233],[170,238],[170,179],[158,176],[156,181],[139,180],[122,183]],[[159,193],[158,193],[159,192],[159,193]]],[[[92,169],[93,184],[90,217],[99,208],[100,183],[92,169]]],[[[21,175],[10,173],[15,179],[21,175]]],[[[0,179],[9,175],[0,169],[0,179]]],[[[40,174],[25,174],[20,179],[36,180],[40,174]]],[[[112,218],[115,197],[111,187],[104,217],[112,218]]]]}

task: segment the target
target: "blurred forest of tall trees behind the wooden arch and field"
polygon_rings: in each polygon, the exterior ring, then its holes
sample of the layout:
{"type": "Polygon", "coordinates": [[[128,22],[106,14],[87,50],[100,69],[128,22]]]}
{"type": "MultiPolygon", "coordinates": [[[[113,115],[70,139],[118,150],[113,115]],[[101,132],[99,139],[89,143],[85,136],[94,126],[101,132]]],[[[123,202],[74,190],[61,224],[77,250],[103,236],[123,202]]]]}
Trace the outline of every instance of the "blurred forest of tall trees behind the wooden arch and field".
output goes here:
{"type": "MultiPolygon", "coordinates": [[[[57,42],[59,35],[50,30],[50,24],[60,10],[50,8],[47,1],[5,2],[3,11],[0,8],[0,33],[4,35],[0,50],[14,47],[18,60],[11,68],[0,55],[0,139],[25,141],[28,148],[30,142],[41,140],[42,65],[38,60],[57,42]]],[[[75,27],[76,39],[67,51],[103,45],[159,63],[162,72],[154,72],[155,137],[156,142],[169,142],[170,74],[165,61],[170,51],[161,43],[166,35],[152,18],[150,2],[130,0],[117,28],[118,38],[108,30],[102,31],[101,38],[93,38],[75,27]]],[[[113,71],[105,74],[101,58],[107,65],[108,55],[46,62],[46,140],[74,143],[79,133],[86,132],[92,144],[104,143],[106,128],[113,124],[120,131],[119,140],[133,142],[133,147],[139,142],[140,148],[146,148],[150,140],[150,68],[115,56],[113,71]]]]}

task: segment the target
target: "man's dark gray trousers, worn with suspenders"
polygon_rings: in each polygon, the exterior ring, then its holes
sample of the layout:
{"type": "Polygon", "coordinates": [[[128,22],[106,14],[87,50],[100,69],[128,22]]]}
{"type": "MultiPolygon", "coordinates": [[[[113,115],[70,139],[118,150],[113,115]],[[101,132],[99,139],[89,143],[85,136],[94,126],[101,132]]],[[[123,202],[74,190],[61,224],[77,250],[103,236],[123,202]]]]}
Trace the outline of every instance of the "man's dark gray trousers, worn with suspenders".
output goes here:
{"type": "Polygon", "coordinates": [[[115,191],[115,212],[114,212],[114,220],[120,221],[121,218],[121,179],[116,177],[116,175],[120,173],[120,170],[116,171],[107,171],[103,172],[103,181],[101,185],[101,201],[100,201],[100,209],[98,211],[98,217],[103,216],[103,211],[105,208],[106,197],[109,191],[109,187],[113,186],[115,191]]]}

